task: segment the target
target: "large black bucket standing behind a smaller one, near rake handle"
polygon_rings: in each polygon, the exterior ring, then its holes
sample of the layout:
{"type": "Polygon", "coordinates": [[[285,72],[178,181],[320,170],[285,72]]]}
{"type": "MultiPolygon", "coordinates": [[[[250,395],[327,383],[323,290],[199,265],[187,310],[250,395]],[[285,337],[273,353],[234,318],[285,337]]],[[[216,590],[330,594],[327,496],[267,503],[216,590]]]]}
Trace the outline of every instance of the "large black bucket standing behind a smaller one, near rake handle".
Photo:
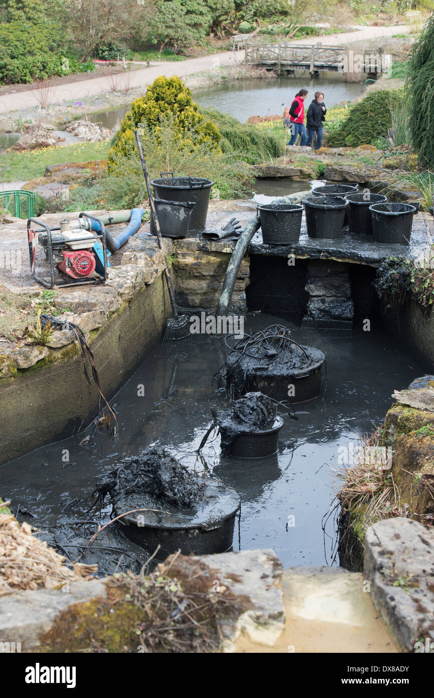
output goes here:
{"type": "Polygon", "coordinates": [[[214,181],[200,177],[162,177],[151,181],[157,199],[194,202],[190,230],[204,228],[207,223],[209,195],[214,181]]]}

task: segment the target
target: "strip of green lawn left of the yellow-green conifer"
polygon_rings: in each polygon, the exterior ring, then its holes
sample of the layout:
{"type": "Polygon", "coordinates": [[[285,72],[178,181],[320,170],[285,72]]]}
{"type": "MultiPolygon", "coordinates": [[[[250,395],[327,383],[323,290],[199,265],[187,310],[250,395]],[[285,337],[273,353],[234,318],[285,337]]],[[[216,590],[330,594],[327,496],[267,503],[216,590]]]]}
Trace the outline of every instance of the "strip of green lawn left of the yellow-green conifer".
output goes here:
{"type": "Polygon", "coordinates": [[[43,177],[47,165],[60,163],[85,163],[88,160],[105,160],[110,147],[110,140],[73,145],[50,146],[22,153],[2,153],[0,155],[1,181],[29,181],[34,177],[43,177]]]}

